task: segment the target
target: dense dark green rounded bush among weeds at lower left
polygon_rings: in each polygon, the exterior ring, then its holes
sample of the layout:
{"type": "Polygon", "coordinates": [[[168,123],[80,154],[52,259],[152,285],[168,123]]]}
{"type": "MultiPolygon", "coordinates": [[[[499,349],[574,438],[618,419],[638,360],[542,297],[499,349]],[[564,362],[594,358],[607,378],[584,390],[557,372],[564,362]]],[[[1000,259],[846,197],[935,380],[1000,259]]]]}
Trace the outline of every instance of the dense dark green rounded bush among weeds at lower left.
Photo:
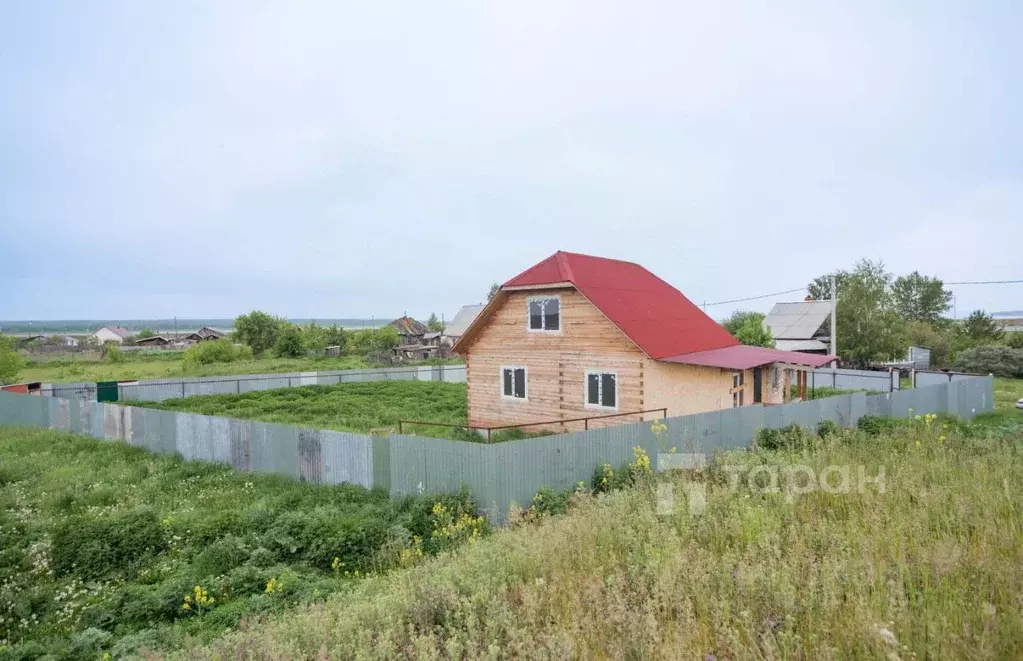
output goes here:
{"type": "Polygon", "coordinates": [[[53,569],[60,576],[100,578],[133,568],[163,545],[160,521],[145,508],[73,517],[53,530],[53,569]]]}

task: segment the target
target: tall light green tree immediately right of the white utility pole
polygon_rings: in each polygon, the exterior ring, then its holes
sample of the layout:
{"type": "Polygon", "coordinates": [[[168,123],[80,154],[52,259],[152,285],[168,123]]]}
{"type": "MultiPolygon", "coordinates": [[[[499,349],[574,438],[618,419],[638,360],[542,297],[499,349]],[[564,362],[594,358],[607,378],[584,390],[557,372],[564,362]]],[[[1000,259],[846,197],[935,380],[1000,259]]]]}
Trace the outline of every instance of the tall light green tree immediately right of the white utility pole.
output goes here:
{"type": "Polygon", "coordinates": [[[844,360],[863,366],[905,355],[909,341],[905,321],[895,310],[891,281],[883,263],[866,259],[840,279],[836,324],[844,360]]]}

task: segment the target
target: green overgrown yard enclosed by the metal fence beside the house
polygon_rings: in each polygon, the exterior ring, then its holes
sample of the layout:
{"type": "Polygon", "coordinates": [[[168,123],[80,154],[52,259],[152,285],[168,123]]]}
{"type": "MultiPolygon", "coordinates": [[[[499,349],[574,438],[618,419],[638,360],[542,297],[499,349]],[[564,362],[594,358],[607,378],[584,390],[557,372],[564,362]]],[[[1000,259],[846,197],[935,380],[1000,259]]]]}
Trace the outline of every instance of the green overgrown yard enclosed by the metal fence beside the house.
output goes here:
{"type": "MultiPolygon", "coordinates": [[[[133,403],[133,405],[135,405],[133,403]]],[[[197,395],[137,405],[300,425],[342,432],[368,433],[377,428],[397,429],[400,420],[464,425],[465,386],[429,381],[374,381],[278,388],[242,395],[197,395]]],[[[413,426],[406,433],[452,438],[451,428],[413,426]]]]}

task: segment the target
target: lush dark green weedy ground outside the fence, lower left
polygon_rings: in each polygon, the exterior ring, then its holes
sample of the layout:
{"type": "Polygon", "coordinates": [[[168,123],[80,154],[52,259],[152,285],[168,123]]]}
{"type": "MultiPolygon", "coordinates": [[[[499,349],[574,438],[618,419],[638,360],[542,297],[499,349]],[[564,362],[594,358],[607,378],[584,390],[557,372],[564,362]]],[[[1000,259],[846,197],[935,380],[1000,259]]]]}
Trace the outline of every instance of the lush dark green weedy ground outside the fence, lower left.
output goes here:
{"type": "Polygon", "coordinates": [[[463,514],[465,494],[395,500],[0,429],[0,660],[209,640],[487,532],[463,514]]]}

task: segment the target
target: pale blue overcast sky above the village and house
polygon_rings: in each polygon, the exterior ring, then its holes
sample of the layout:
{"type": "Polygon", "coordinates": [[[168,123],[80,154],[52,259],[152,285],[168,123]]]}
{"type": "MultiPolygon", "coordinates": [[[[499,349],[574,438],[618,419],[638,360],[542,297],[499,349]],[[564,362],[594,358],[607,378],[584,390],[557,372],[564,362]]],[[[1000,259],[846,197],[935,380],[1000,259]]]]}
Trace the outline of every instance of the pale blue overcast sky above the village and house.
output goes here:
{"type": "Polygon", "coordinates": [[[1023,277],[1021,25],[1012,0],[0,2],[0,318],[450,316],[557,250],[698,303],[860,257],[1023,277]]]}

